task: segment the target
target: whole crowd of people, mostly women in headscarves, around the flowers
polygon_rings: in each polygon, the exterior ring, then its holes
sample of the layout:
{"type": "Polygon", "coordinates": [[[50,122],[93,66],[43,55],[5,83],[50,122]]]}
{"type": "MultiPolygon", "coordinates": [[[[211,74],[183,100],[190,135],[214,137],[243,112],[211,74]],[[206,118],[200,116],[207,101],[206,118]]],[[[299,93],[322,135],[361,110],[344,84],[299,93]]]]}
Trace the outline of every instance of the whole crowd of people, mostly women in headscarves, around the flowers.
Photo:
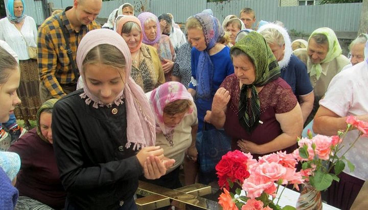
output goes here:
{"type": "MultiPolygon", "coordinates": [[[[222,23],[205,9],[183,33],[172,14],[134,16],[129,3],[101,26],[101,0],[74,0],[37,30],[26,6],[8,0],[0,19],[1,209],[137,209],[139,180],[202,182],[203,130],[258,158],[292,152],[303,129],[335,135],[349,115],[368,121],[367,34],[348,58],[332,29],[291,42],[287,26],[257,23],[250,8],[222,23]]],[[[363,138],[345,155],[356,170],[326,193],[338,208],[368,178],[363,138]]]]}

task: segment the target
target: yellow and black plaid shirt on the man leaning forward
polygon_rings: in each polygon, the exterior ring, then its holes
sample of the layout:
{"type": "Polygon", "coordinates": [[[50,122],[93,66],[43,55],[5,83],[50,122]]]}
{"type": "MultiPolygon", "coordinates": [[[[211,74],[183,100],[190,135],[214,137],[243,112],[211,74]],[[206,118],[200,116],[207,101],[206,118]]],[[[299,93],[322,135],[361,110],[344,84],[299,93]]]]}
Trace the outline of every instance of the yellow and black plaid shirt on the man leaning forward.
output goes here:
{"type": "MultiPolygon", "coordinates": [[[[72,29],[65,11],[56,15],[60,16],[65,26],[64,30],[68,33],[66,37],[73,51],[73,62],[76,62],[77,47],[82,37],[88,31],[99,29],[101,26],[96,21],[92,21],[87,26],[82,25],[77,33],[72,29]]],[[[75,84],[78,78],[74,76],[71,61],[66,52],[66,42],[56,15],[47,18],[38,30],[38,72],[41,82],[51,95],[54,98],[61,98],[65,96],[65,92],[60,85],[75,84]]],[[[77,68],[77,64],[75,66],[77,68]]]]}

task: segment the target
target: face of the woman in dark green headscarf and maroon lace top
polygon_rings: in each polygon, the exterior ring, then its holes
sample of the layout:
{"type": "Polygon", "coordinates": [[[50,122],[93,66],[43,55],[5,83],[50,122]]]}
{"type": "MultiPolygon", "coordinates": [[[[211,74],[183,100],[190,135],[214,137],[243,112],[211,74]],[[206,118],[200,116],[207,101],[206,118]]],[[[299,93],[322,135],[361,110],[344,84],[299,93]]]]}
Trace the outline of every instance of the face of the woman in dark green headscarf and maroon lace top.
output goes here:
{"type": "Polygon", "coordinates": [[[240,86],[253,84],[256,80],[256,69],[248,56],[233,56],[234,73],[238,77],[240,86]]]}

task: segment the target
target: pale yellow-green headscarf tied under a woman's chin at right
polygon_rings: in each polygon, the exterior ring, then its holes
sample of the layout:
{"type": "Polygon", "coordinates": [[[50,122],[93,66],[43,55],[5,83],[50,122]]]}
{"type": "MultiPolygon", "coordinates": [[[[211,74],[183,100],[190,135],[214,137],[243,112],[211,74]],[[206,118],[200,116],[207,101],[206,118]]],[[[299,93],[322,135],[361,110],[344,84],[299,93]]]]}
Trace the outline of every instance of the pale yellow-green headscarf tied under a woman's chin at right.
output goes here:
{"type": "MultiPolygon", "coordinates": [[[[338,42],[335,32],[332,29],[330,28],[316,29],[309,36],[308,44],[309,44],[309,40],[311,39],[311,37],[316,34],[324,34],[328,39],[328,52],[327,52],[326,58],[323,59],[320,63],[328,63],[332,61],[333,59],[335,59],[337,56],[341,55],[342,50],[341,50],[340,44],[338,42]]],[[[317,64],[311,63],[310,58],[308,57],[308,64],[310,65],[310,67],[308,66],[309,75],[310,76],[316,75],[317,80],[319,79],[322,73],[322,66],[320,65],[320,63],[317,63],[317,64]]]]}

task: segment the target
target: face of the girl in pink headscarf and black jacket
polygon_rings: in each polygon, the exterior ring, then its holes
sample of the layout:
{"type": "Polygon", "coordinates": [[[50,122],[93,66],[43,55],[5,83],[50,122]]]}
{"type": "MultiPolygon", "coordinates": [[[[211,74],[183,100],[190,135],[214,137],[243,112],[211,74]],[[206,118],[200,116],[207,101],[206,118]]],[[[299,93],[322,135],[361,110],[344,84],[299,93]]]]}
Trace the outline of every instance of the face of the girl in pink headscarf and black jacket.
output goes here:
{"type": "Polygon", "coordinates": [[[85,80],[91,94],[105,104],[112,103],[125,87],[125,69],[93,63],[84,67],[85,80]]]}

